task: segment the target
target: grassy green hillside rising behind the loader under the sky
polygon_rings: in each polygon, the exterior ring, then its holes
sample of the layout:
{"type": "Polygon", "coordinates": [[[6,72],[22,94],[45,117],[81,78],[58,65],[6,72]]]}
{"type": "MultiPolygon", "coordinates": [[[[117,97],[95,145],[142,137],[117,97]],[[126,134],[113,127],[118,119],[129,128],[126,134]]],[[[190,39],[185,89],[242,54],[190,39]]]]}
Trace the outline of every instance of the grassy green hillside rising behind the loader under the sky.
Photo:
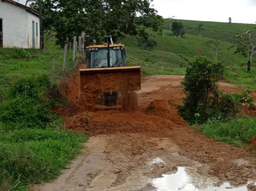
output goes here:
{"type": "MultiPolygon", "coordinates": [[[[229,25],[221,22],[189,20],[175,21],[182,22],[184,29],[188,29],[183,37],[174,37],[172,31],[169,30],[169,19],[164,19],[162,35],[150,31],[150,39],[157,42],[157,47],[154,49],[144,50],[143,47],[138,47],[138,37],[127,36],[121,40],[122,44],[125,44],[128,56],[142,66],[145,66],[146,63],[152,68],[163,65],[164,71],[166,71],[168,67],[187,66],[188,63],[180,57],[180,54],[188,60],[199,55],[213,58],[205,43],[211,39],[218,39],[222,41],[222,45],[217,58],[223,61],[225,66],[241,66],[248,62],[248,58],[234,54],[234,48],[230,47],[234,43],[234,35],[240,31],[253,30],[256,25],[237,23],[229,25]],[[201,30],[198,28],[199,23],[203,24],[201,30]]],[[[253,62],[256,62],[255,57],[256,55],[253,57],[253,62]]]]}

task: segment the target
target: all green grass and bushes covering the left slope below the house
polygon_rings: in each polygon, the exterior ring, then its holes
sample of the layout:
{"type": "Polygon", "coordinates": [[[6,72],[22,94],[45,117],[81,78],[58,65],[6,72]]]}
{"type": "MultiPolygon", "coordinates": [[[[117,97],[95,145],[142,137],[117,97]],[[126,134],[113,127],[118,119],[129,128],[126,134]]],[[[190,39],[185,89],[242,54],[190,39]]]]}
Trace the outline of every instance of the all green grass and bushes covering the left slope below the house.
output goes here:
{"type": "Polygon", "coordinates": [[[49,45],[43,53],[0,48],[0,190],[56,178],[88,138],[60,129],[61,116],[50,110],[64,100],[50,81],[53,56],[55,78],[62,75],[63,50],[49,45]]]}

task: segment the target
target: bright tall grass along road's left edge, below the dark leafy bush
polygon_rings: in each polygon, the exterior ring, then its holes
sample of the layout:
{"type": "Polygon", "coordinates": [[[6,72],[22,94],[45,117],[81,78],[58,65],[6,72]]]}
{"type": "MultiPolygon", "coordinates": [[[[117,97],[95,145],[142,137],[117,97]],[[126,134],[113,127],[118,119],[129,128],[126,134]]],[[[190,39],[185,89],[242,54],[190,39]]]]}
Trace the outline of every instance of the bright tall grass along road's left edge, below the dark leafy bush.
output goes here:
{"type": "Polygon", "coordinates": [[[56,178],[87,140],[82,134],[59,128],[19,129],[0,134],[0,190],[3,183],[23,190],[27,183],[56,178]]]}

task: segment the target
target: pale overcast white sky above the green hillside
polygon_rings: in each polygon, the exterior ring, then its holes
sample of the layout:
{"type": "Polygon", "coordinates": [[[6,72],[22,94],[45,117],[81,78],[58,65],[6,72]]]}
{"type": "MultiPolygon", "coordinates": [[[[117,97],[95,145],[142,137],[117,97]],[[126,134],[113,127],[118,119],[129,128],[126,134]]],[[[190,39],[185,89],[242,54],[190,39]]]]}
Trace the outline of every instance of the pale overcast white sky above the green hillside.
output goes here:
{"type": "MultiPolygon", "coordinates": [[[[16,0],[17,1],[17,0],[16,0]]],[[[26,0],[18,0],[25,4],[26,0]]],[[[163,18],[255,24],[256,0],[153,0],[163,18]]]]}

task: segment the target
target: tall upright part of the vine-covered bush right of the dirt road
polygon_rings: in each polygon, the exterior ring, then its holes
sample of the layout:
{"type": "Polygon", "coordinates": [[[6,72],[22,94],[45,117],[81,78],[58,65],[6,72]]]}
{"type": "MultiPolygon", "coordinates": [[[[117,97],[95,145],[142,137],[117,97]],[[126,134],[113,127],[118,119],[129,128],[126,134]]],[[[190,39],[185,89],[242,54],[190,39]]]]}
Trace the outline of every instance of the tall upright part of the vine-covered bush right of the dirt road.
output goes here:
{"type": "Polygon", "coordinates": [[[206,121],[219,115],[216,82],[222,78],[222,63],[207,57],[194,57],[187,67],[185,78],[181,82],[186,98],[183,106],[178,106],[178,113],[188,122],[206,121]],[[195,116],[195,113],[198,115],[195,116]]]}

